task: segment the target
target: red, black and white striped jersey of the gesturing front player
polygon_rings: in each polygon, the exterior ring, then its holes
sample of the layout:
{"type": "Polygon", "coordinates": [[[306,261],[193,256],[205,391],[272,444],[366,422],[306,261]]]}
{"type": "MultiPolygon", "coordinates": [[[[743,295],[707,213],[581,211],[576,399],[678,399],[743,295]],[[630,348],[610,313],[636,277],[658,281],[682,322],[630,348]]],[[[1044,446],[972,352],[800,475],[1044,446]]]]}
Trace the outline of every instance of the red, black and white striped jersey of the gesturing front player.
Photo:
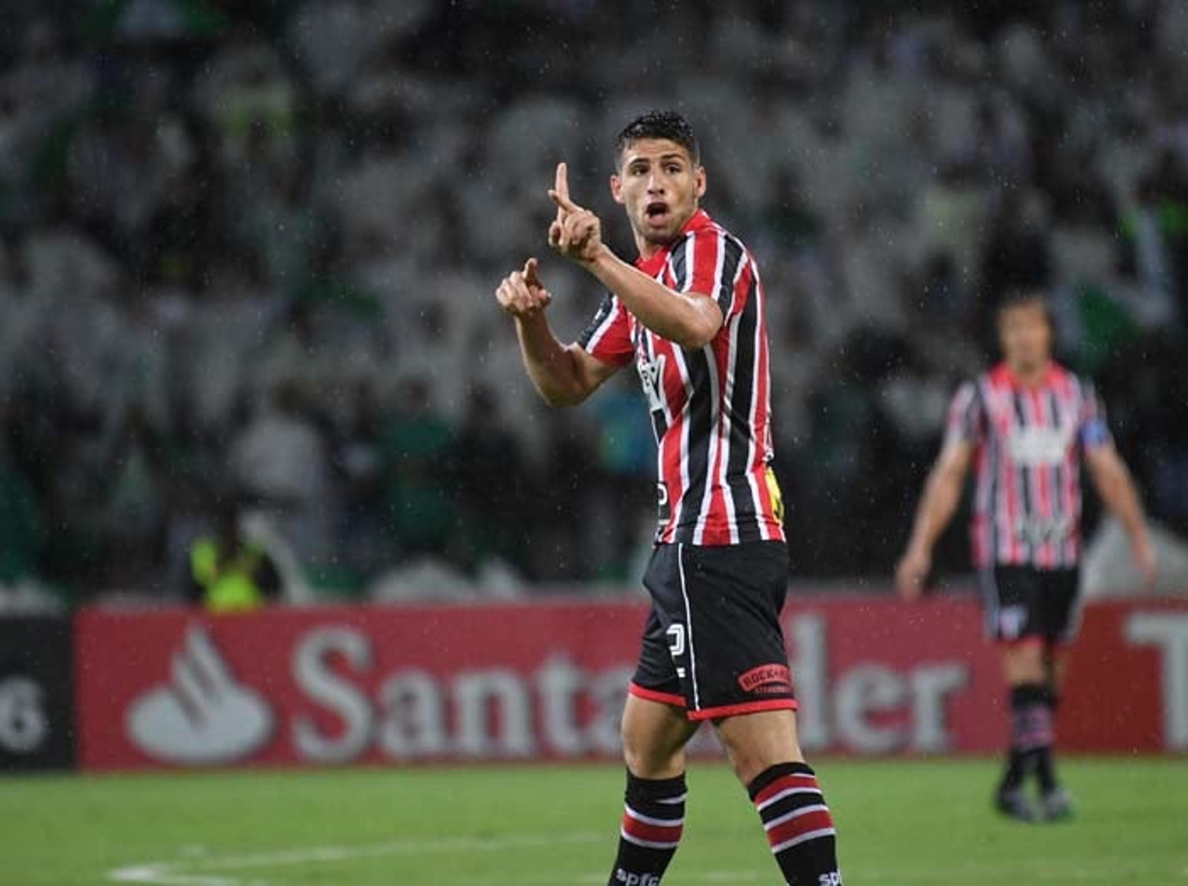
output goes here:
{"type": "Polygon", "coordinates": [[[767,333],[754,258],[697,210],[676,241],[636,266],[669,289],[716,299],[723,318],[709,343],[684,350],[608,293],[579,340],[606,363],[636,361],[659,447],[657,543],[784,540],[769,467],[767,333]]]}

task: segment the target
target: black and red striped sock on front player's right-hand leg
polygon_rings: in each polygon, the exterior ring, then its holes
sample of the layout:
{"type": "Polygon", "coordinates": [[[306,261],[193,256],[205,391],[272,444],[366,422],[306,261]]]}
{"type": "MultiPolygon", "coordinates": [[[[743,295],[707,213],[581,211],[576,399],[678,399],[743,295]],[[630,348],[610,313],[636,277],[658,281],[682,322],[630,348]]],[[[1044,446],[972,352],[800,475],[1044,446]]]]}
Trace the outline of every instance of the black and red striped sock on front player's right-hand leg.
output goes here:
{"type": "Polygon", "coordinates": [[[790,886],[840,886],[836,831],[808,764],[781,762],[747,786],[790,886]]]}

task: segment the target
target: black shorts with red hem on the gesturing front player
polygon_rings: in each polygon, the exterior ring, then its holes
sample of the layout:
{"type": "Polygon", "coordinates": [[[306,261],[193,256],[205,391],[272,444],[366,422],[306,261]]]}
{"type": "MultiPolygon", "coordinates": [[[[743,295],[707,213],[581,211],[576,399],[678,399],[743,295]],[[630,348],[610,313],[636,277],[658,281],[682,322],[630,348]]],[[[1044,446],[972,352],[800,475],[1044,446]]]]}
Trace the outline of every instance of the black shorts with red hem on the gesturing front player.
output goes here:
{"type": "Polygon", "coordinates": [[[652,610],[632,695],[680,705],[690,720],[796,708],[779,627],[783,542],[657,545],[644,586],[652,610]]]}

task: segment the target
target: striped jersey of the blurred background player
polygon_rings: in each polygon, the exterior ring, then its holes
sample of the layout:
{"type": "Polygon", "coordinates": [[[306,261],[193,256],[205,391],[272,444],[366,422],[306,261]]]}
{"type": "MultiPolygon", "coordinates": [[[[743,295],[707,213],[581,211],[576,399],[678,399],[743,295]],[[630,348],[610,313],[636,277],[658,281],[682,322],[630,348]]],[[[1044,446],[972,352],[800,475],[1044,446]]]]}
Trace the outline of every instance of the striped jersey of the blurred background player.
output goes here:
{"type": "Polygon", "coordinates": [[[1026,387],[999,365],[958,391],[947,436],[975,447],[974,565],[1075,567],[1081,456],[1111,439],[1093,386],[1053,363],[1026,387]]]}

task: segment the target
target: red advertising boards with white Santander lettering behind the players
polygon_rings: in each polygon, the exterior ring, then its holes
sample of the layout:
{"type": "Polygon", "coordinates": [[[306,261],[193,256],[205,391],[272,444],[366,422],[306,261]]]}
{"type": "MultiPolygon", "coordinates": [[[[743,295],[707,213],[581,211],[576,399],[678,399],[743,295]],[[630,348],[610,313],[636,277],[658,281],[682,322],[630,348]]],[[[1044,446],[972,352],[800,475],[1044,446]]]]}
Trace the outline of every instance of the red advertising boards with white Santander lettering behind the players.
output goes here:
{"type": "MultiPolygon", "coordinates": [[[[645,607],[89,609],[76,619],[89,768],[618,755],[645,607]]],[[[972,600],[796,599],[784,613],[807,749],[997,751],[999,657],[972,600]]],[[[1088,607],[1061,742],[1188,751],[1188,605],[1088,607]]],[[[697,748],[715,747],[703,729],[697,748]]]]}

